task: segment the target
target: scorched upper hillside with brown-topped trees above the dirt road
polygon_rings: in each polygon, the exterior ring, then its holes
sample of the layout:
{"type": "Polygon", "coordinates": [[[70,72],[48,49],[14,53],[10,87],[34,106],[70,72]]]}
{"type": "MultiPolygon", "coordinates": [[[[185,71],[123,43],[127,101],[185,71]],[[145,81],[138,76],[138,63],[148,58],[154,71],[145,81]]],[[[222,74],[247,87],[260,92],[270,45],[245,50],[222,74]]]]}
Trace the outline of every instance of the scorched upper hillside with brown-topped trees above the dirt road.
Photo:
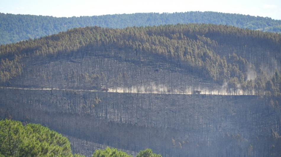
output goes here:
{"type": "Polygon", "coordinates": [[[213,24],[77,28],[1,45],[0,83],[75,89],[107,85],[115,90],[151,90],[151,83],[157,83],[166,92],[196,87],[205,93],[264,95],[266,91],[279,96],[280,39],[281,34],[213,24]],[[68,70],[61,71],[65,66],[68,70]],[[22,73],[24,67],[32,71],[22,73]],[[201,85],[189,77],[209,83],[201,85]]]}

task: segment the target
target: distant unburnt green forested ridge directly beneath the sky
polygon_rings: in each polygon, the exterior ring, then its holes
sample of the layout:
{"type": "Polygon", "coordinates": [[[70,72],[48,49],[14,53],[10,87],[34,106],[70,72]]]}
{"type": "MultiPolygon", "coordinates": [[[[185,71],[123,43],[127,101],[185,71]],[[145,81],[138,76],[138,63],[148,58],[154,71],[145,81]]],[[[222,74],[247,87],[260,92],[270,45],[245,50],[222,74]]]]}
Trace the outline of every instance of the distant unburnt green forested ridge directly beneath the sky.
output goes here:
{"type": "Polygon", "coordinates": [[[125,28],[165,24],[210,23],[265,32],[281,32],[281,20],[270,17],[218,12],[136,13],[102,16],[52,17],[0,13],[0,44],[40,38],[68,29],[86,26],[125,28]]]}

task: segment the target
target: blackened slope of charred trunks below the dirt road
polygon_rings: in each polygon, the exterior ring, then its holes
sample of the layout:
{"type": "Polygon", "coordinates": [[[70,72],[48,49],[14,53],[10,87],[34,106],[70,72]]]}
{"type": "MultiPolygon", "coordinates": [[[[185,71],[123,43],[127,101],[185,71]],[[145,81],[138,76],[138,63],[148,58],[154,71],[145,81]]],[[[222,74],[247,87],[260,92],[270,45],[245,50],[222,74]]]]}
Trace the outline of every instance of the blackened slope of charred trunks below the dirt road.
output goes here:
{"type": "Polygon", "coordinates": [[[280,107],[257,96],[22,89],[0,93],[1,117],[41,123],[75,137],[72,150],[86,156],[97,148],[94,143],[135,152],[151,148],[162,156],[281,153],[280,107]],[[77,148],[81,140],[84,146],[77,148]]]}

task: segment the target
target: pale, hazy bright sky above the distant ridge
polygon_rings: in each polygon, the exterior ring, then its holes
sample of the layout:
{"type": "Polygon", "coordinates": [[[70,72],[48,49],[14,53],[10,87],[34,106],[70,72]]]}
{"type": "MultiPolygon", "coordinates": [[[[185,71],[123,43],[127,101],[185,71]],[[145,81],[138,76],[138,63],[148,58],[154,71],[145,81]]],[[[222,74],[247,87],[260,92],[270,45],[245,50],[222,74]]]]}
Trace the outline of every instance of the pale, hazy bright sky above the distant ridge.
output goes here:
{"type": "Polygon", "coordinates": [[[280,0],[0,0],[0,12],[54,17],[215,11],[281,19],[280,0]]]}

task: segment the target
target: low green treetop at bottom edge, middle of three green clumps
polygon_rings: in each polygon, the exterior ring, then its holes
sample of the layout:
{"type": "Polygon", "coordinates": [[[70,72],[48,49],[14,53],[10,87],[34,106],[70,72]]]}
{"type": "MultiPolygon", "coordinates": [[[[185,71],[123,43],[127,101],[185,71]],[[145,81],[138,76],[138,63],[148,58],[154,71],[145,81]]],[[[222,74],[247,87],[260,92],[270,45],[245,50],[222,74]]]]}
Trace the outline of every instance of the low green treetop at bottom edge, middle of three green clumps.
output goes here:
{"type": "Polygon", "coordinates": [[[117,151],[116,148],[106,147],[105,150],[97,149],[92,157],[132,157],[123,151],[117,151]]]}

